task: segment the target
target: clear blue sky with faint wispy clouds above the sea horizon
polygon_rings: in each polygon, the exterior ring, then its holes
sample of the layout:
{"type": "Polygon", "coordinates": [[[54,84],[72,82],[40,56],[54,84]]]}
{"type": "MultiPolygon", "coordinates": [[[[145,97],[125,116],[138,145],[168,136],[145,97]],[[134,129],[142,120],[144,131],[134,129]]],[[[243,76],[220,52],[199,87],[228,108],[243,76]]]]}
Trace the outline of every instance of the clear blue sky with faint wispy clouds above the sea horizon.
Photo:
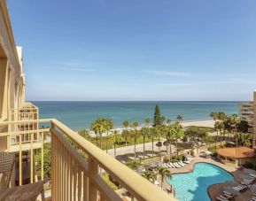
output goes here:
{"type": "Polygon", "coordinates": [[[248,100],[256,1],[8,0],[28,100],[248,100]]]}

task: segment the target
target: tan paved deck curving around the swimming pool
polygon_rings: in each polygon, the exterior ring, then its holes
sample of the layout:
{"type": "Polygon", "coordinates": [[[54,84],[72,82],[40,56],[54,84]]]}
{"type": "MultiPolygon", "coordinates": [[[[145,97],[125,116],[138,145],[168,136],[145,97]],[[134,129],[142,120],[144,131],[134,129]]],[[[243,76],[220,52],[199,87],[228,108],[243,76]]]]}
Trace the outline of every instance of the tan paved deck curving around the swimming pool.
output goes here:
{"type": "MultiPolygon", "coordinates": [[[[226,164],[222,164],[221,162],[214,160],[213,158],[201,158],[198,155],[195,155],[194,160],[181,168],[169,168],[172,174],[182,174],[182,173],[190,173],[193,171],[194,166],[196,163],[200,163],[200,162],[204,162],[204,163],[210,163],[213,164],[215,166],[220,166],[222,169],[228,171],[230,174],[232,174],[234,176],[234,179],[236,182],[240,183],[243,178],[244,175],[248,174],[248,173],[253,173],[256,174],[256,172],[254,170],[250,170],[250,169],[243,169],[243,170],[237,170],[237,168],[235,166],[229,166],[226,164]]],[[[167,182],[164,183],[164,186],[169,186],[169,184],[167,182]]],[[[216,200],[216,197],[220,196],[223,192],[223,187],[225,186],[225,183],[217,183],[217,184],[213,184],[208,188],[208,195],[211,197],[211,199],[213,201],[216,200]]],[[[241,193],[239,196],[237,196],[235,198],[236,201],[245,201],[245,200],[250,200],[252,197],[252,191],[250,189],[247,189],[246,191],[244,191],[243,193],[241,193]]]]}

